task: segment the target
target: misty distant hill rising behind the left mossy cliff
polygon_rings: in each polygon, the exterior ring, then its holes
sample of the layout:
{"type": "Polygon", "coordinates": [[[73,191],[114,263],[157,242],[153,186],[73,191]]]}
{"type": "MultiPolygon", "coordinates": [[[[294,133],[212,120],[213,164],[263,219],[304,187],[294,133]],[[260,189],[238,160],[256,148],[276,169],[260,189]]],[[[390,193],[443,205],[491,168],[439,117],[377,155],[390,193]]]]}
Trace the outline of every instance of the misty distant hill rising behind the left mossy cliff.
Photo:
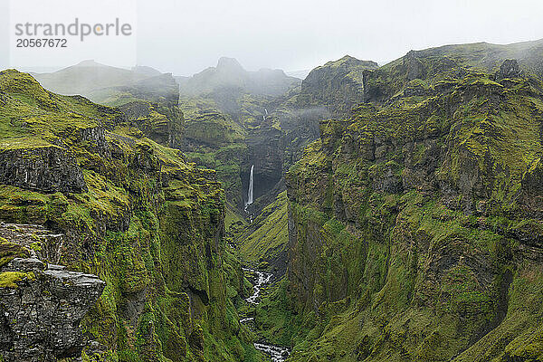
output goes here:
{"type": "Polygon", "coordinates": [[[161,145],[180,148],[183,142],[184,119],[177,107],[179,90],[171,74],[149,67],[129,71],[85,61],[33,76],[48,90],[120,107],[129,121],[161,145]]]}

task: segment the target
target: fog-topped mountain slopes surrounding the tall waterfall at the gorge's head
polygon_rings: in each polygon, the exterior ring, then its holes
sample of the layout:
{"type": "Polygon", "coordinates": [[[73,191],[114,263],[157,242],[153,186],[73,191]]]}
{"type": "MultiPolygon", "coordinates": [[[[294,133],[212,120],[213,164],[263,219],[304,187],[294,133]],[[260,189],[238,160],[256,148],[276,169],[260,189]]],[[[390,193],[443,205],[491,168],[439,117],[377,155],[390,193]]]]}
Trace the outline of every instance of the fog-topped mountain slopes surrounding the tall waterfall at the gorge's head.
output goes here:
{"type": "Polygon", "coordinates": [[[364,98],[363,71],[376,66],[346,56],[310,71],[299,87],[284,88],[284,94],[277,97],[271,97],[277,81],[262,78],[259,87],[270,90],[264,95],[247,85],[254,74],[233,59],[223,58],[216,68],[180,82],[186,156],[197,165],[217,170],[233,213],[255,218],[242,233],[230,231],[244,260],[268,262],[281,273],[285,271],[286,204],[275,205],[285,189],[283,175],[300,159],[303,148],[318,138],[319,121],[331,115],[348,117],[350,109],[364,98]],[[248,205],[248,215],[243,208],[252,166],[254,203],[248,205]],[[282,210],[281,216],[270,215],[276,208],[282,210]]]}

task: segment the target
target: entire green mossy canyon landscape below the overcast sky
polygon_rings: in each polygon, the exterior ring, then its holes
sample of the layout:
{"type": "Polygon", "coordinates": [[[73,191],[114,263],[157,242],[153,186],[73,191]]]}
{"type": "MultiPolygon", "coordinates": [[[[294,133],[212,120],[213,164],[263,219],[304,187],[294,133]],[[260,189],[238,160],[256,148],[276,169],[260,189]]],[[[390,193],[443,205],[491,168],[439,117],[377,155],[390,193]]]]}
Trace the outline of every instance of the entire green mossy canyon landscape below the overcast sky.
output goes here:
{"type": "Polygon", "coordinates": [[[0,360],[543,360],[541,59],[1,71],[0,360]]]}

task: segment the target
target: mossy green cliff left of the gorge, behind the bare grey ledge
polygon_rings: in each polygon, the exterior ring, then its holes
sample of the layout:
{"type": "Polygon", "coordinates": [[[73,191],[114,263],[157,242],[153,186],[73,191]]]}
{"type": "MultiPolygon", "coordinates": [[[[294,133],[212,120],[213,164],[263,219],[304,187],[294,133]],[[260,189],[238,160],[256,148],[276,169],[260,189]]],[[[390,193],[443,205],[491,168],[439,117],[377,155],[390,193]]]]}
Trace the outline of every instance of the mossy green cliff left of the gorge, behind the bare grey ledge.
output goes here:
{"type": "Polygon", "coordinates": [[[135,126],[126,112],[0,72],[0,220],[62,232],[62,243],[35,247],[106,281],[81,322],[100,360],[252,360],[215,172],[135,126]]]}

